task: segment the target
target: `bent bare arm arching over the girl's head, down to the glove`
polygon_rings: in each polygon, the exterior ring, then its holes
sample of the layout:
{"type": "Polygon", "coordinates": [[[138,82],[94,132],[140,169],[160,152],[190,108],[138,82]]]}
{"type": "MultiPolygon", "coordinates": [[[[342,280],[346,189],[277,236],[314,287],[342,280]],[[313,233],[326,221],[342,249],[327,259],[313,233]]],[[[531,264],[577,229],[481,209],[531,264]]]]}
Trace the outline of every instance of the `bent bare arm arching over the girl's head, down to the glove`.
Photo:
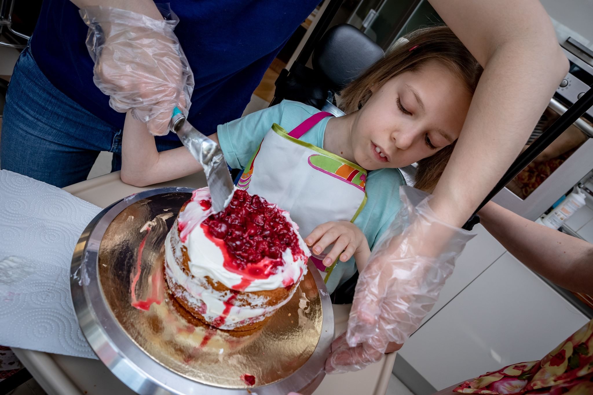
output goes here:
{"type": "Polygon", "coordinates": [[[484,67],[431,207],[461,226],[517,158],[568,71],[537,0],[431,0],[484,67]]]}

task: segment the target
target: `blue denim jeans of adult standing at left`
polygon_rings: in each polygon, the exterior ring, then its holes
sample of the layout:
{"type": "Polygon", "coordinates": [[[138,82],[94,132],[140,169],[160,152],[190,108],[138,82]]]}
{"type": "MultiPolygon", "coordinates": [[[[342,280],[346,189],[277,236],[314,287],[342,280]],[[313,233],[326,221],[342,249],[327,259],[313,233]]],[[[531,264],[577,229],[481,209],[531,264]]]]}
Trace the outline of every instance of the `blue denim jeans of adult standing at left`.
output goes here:
{"type": "MultiPolygon", "coordinates": [[[[179,141],[157,140],[159,151],[179,146],[179,141]]],[[[55,88],[27,45],[8,84],[0,136],[1,168],[62,188],[87,179],[101,151],[113,152],[111,171],[119,170],[122,130],[55,88]]]]}

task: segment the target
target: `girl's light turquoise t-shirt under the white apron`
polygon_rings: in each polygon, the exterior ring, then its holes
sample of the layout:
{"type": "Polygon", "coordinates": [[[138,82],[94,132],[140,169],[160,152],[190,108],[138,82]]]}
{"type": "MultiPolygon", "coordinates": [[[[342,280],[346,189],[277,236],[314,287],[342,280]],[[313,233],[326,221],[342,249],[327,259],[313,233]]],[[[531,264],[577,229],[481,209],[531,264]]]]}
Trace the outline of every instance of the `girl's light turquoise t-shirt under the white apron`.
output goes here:
{"type": "MultiPolygon", "coordinates": [[[[225,159],[231,168],[244,169],[273,123],[291,131],[318,112],[317,108],[310,105],[283,100],[278,105],[219,125],[218,140],[225,159]]],[[[323,137],[329,120],[330,117],[327,117],[319,121],[300,140],[323,148],[323,137]]],[[[365,183],[366,204],[354,220],[354,224],[362,230],[371,249],[398,213],[401,205],[399,188],[405,183],[398,169],[378,169],[368,172],[365,183]]],[[[355,272],[354,258],[350,258],[347,262],[338,262],[327,281],[328,291],[333,293],[355,272]]]]}

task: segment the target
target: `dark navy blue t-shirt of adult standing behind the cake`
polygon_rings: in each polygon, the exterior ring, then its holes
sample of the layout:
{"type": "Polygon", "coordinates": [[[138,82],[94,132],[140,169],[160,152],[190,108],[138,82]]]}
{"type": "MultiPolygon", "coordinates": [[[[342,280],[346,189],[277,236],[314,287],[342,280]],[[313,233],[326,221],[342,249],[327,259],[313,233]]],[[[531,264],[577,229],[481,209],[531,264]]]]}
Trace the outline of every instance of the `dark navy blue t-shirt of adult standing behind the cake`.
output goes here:
{"type": "MultiPolygon", "coordinates": [[[[195,79],[188,121],[205,134],[243,113],[272,60],[320,0],[169,0],[195,79]]],[[[47,79],[117,129],[125,114],[93,83],[88,27],[69,0],[44,0],[31,52],[47,79]]],[[[92,131],[89,131],[92,133],[92,131]]],[[[164,138],[177,139],[170,133],[164,138]]]]}

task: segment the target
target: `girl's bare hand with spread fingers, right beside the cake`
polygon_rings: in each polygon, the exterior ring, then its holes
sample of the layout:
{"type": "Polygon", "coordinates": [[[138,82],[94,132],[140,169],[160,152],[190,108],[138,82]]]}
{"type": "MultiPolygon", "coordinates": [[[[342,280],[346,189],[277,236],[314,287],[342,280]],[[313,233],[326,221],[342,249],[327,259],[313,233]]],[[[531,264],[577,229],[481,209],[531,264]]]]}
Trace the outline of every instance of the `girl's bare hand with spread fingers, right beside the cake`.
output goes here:
{"type": "Polygon", "coordinates": [[[340,261],[346,262],[352,255],[370,253],[368,242],[362,230],[348,221],[326,222],[315,229],[305,238],[308,246],[313,246],[313,253],[320,254],[327,246],[333,244],[333,248],[323,259],[323,264],[331,266],[336,262],[338,255],[340,261]]]}

